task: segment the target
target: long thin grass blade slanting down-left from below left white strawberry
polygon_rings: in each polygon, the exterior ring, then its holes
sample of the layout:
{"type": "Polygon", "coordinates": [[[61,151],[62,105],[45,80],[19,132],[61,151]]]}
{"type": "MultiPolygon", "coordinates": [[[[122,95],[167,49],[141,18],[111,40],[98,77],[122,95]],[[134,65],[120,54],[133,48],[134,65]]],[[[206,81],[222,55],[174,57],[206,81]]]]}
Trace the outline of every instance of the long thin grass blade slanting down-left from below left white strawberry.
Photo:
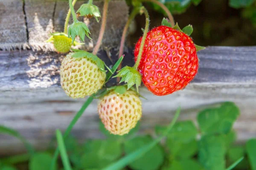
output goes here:
{"type": "MultiPolygon", "coordinates": [[[[93,101],[93,95],[90,96],[86,102],[84,102],[84,105],[81,107],[81,109],[76,113],[76,116],[73,118],[73,120],[70,122],[70,125],[67,127],[65,133],[64,133],[64,139],[67,138],[67,136],[69,135],[70,131],[72,130],[73,126],[76,124],[76,122],[78,121],[78,119],[82,116],[82,114],[84,113],[85,109],[90,105],[90,103],[93,101]]],[[[51,167],[50,170],[54,170],[53,168],[55,167],[56,161],[58,159],[58,152],[59,149],[58,147],[56,148],[55,152],[54,152],[54,156],[52,159],[52,163],[51,163],[51,167]]]]}

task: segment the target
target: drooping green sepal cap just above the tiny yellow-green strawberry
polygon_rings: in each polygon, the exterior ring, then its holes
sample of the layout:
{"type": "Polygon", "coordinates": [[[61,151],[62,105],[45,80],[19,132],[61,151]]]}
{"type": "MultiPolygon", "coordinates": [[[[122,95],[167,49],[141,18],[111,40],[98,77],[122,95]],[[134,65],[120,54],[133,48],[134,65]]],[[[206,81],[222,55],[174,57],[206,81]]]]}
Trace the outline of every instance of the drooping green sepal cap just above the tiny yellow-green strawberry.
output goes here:
{"type": "MultiPolygon", "coordinates": [[[[91,37],[89,36],[90,34],[90,30],[89,28],[86,26],[85,23],[82,22],[77,22],[77,23],[73,23],[70,25],[70,27],[68,28],[68,37],[71,36],[72,38],[72,43],[74,42],[76,36],[80,37],[80,40],[82,42],[84,42],[84,37],[85,35],[91,39],[91,37]]],[[[92,39],[91,39],[92,40],[92,39]]]]}

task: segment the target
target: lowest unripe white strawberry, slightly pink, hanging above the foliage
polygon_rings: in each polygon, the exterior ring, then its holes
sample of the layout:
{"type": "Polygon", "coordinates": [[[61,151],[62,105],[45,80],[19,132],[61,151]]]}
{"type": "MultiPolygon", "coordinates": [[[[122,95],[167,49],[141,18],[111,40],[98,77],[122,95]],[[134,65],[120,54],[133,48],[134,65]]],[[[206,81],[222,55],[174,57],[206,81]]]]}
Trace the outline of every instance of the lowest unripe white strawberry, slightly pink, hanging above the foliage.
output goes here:
{"type": "Polygon", "coordinates": [[[100,99],[98,113],[105,128],[124,135],[134,128],[142,115],[141,100],[135,91],[117,94],[112,91],[100,99]]]}

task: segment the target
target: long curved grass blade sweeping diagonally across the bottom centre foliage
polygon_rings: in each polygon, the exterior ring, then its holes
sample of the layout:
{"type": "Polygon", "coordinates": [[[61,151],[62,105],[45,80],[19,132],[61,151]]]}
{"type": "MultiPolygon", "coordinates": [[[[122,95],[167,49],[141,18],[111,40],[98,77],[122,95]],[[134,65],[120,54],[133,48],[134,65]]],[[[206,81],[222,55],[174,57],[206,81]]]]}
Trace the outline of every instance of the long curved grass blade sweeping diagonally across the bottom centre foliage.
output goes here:
{"type": "Polygon", "coordinates": [[[152,147],[154,147],[157,143],[159,143],[172,129],[172,127],[175,125],[175,122],[177,121],[178,117],[180,115],[180,108],[177,109],[174,118],[172,119],[172,122],[168,125],[167,129],[163,133],[162,136],[155,139],[150,144],[145,145],[144,147],[141,147],[138,150],[135,150],[134,152],[130,153],[129,155],[123,157],[119,161],[116,161],[115,163],[109,165],[108,167],[104,168],[103,170],[120,170],[124,167],[126,167],[131,162],[135,161],[136,159],[139,159],[141,156],[143,156],[145,153],[148,152],[152,147]]]}

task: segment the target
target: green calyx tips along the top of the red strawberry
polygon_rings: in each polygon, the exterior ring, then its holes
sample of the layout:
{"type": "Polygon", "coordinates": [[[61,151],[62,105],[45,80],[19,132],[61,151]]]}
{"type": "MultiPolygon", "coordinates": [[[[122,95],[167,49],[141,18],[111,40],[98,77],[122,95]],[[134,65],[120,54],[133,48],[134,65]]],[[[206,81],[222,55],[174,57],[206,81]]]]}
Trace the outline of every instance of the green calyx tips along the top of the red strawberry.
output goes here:
{"type": "MultiPolygon", "coordinates": [[[[189,24],[188,26],[185,26],[183,29],[180,29],[178,23],[176,23],[176,25],[174,27],[172,27],[172,24],[166,18],[163,18],[162,26],[171,27],[173,29],[176,29],[177,31],[180,31],[180,32],[183,32],[183,33],[187,34],[188,36],[190,36],[192,34],[192,32],[193,32],[192,25],[189,24]]],[[[195,48],[196,48],[196,51],[200,51],[200,50],[204,50],[205,49],[205,47],[202,47],[202,46],[199,46],[199,45],[196,45],[196,44],[195,44],[195,48]]]]}

